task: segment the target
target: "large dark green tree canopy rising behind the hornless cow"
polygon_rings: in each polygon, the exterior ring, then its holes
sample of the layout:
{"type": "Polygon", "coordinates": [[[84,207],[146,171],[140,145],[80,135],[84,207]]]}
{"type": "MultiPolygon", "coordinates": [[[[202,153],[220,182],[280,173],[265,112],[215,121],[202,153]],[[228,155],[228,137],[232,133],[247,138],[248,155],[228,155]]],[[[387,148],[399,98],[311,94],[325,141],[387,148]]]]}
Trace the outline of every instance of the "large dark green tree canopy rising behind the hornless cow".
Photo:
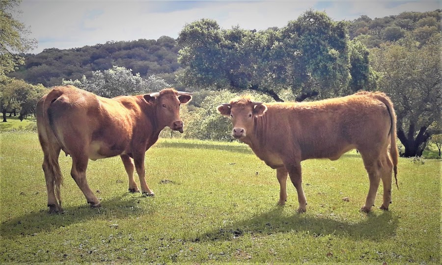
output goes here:
{"type": "Polygon", "coordinates": [[[322,12],[309,10],[286,27],[262,31],[226,30],[202,19],[186,25],[177,41],[182,47],[178,61],[184,67],[177,78],[186,85],[251,89],[276,101],[282,101],[279,93],[286,88],[298,101],[348,90],[345,23],[333,22],[322,12]]]}

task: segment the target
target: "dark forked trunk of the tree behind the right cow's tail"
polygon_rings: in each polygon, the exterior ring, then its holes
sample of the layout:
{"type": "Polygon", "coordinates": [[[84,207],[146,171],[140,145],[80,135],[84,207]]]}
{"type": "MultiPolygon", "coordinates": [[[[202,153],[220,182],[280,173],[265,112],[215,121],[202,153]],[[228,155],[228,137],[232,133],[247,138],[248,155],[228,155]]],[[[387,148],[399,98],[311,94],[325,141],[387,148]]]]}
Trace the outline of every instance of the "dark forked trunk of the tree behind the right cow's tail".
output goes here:
{"type": "Polygon", "coordinates": [[[405,147],[405,153],[403,153],[401,157],[410,158],[422,156],[423,148],[421,148],[421,146],[425,147],[425,145],[422,144],[426,143],[430,136],[427,133],[427,127],[422,126],[415,138],[414,134],[414,124],[410,124],[407,135],[405,135],[405,132],[402,131],[402,129],[399,128],[397,130],[397,137],[405,147]]]}

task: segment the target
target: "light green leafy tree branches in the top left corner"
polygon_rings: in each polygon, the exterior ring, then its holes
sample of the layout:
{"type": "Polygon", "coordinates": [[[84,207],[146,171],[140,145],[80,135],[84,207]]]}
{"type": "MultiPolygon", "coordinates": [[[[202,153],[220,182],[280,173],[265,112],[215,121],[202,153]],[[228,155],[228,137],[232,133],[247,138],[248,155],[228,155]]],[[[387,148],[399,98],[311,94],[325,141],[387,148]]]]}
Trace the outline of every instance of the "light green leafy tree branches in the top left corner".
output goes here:
{"type": "Polygon", "coordinates": [[[6,74],[24,64],[23,57],[16,53],[26,53],[37,44],[35,39],[27,37],[29,29],[14,18],[14,13],[19,12],[20,2],[0,1],[0,83],[9,81],[6,74]]]}

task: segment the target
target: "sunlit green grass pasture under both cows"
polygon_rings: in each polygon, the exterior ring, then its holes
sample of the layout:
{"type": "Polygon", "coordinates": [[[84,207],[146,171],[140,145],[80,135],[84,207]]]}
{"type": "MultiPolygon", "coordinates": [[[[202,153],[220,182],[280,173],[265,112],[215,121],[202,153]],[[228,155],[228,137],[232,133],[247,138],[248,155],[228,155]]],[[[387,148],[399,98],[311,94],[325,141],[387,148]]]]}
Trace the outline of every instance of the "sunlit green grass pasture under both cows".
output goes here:
{"type": "Polygon", "coordinates": [[[127,192],[119,158],[90,161],[102,198],[90,209],[62,154],[66,212],[48,214],[37,135],[0,136],[0,263],[441,262],[440,160],[399,159],[390,211],[369,214],[359,212],[368,178],[358,154],[304,161],[308,205],[298,214],[293,185],[277,207],[275,170],[244,144],[160,140],[146,152],[155,197],[127,192]]]}

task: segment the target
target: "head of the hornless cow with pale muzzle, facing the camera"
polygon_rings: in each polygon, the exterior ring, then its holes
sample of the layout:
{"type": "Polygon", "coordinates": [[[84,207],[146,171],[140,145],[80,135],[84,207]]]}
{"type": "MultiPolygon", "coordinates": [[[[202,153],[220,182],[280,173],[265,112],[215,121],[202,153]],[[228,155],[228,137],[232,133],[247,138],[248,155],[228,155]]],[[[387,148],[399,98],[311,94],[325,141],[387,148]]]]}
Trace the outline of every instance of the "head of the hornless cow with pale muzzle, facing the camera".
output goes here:
{"type": "Polygon", "coordinates": [[[267,107],[262,102],[254,102],[249,96],[235,98],[230,103],[218,106],[218,111],[232,120],[232,137],[242,139],[251,133],[255,117],[263,115],[267,107]]]}

